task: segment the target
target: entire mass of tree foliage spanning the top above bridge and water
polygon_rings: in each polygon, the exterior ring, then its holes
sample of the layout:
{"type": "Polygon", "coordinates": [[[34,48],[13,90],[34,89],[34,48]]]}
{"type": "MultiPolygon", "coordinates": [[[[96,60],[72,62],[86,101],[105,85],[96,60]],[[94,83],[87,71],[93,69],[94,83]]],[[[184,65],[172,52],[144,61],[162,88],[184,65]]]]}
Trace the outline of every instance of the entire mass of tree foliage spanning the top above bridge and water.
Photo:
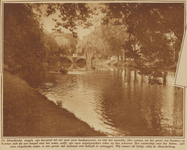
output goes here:
{"type": "MultiPolygon", "coordinates": [[[[100,7],[102,24],[79,41],[78,26],[92,25],[92,15],[99,15],[85,3],[31,3],[5,4],[4,9],[4,62],[34,68],[46,61],[46,55],[76,47],[91,55],[104,57],[128,55],[143,74],[162,76],[164,67],[176,66],[184,32],[183,3],[106,3],[100,7]],[[37,12],[37,13],[33,13],[37,12]],[[60,48],[53,37],[43,33],[42,16],[58,14],[56,31],[62,28],[69,45],[60,48]],[[37,15],[36,15],[37,14],[37,15]],[[53,49],[53,50],[52,50],[53,49]],[[123,50],[123,51],[121,51],[123,50]]],[[[65,51],[64,51],[65,52],[65,51]]],[[[67,53],[67,52],[66,52],[67,53]]]]}

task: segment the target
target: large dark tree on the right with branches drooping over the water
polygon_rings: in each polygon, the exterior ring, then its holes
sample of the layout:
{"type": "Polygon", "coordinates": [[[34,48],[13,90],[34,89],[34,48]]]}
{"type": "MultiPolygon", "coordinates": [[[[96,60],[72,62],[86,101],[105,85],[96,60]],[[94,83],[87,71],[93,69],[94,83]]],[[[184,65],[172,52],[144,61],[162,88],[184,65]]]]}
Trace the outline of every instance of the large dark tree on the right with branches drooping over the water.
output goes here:
{"type": "Polygon", "coordinates": [[[161,66],[171,67],[178,60],[184,32],[184,4],[109,3],[106,6],[103,23],[115,18],[116,25],[127,26],[128,40],[123,46],[140,72],[153,75],[153,79],[163,77],[159,72],[161,66]]]}

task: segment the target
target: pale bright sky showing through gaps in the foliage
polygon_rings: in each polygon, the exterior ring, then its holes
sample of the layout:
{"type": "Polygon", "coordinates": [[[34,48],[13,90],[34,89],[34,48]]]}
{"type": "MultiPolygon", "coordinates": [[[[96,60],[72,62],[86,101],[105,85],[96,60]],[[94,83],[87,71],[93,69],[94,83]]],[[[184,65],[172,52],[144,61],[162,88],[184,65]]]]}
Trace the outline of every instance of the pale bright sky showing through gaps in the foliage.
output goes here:
{"type": "MultiPolygon", "coordinates": [[[[90,7],[96,6],[97,7],[98,4],[97,3],[91,3],[91,4],[89,4],[89,6],[90,7]]],[[[82,27],[78,27],[78,29],[76,30],[77,35],[81,40],[84,36],[88,35],[94,29],[95,26],[100,25],[100,21],[101,21],[101,18],[103,16],[103,14],[100,11],[98,13],[99,14],[97,16],[94,16],[93,20],[92,20],[92,23],[94,24],[94,26],[92,26],[89,29],[83,29],[82,27]]],[[[58,18],[58,12],[56,14],[52,15],[52,16],[43,17],[44,29],[47,30],[49,33],[51,33],[52,29],[55,28],[55,21],[53,21],[52,18],[57,19],[58,18]]],[[[71,33],[69,30],[67,30],[65,28],[62,28],[61,31],[63,31],[65,33],[71,33]]]]}

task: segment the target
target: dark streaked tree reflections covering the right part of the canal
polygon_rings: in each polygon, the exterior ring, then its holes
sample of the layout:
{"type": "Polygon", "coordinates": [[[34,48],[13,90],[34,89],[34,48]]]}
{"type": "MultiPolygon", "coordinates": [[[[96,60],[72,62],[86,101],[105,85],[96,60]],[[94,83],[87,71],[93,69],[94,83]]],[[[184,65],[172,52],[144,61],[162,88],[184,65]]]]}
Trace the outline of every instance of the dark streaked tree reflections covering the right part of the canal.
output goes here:
{"type": "MultiPolygon", "coordinates": [[[[178,98],[175,97],[173,85],[167,85],[167,73],[164,77],[164,85],[167,86],[150,85],[149,77],[130,69],[114,71],[112,76],[111,81],[105,78],[97,83],[103,87],[104,99],[100,105],[107,124],[125,135],[179,135],[176,132],[179,132],[177,127],[181,128],[181,121],[171,124],[177,119],[172,115],[175,113],[173,109],[176,109],[173,103],[178,98]]],[[[178,110],[180,112],[182,109],[178,110]]]]}

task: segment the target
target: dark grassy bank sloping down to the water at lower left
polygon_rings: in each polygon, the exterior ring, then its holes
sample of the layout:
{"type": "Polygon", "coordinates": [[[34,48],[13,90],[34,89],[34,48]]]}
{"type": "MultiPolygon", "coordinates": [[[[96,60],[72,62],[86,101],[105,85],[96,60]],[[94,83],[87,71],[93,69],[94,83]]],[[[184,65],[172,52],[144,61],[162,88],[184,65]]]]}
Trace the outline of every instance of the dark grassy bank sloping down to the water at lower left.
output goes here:
{"type": "Polygon", "coordinates": [[[72,113],[49,101],[24,80],[4,71],[4,136],[100,136],[72,113]]]}

